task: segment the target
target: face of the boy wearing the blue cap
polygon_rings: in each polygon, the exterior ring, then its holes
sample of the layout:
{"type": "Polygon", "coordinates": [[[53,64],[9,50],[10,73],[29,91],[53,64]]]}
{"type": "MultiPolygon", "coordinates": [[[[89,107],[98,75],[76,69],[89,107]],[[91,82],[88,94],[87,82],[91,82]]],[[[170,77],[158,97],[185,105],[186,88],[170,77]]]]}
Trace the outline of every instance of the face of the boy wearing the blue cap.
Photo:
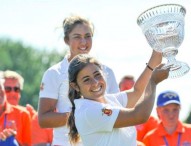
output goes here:
{"type": "Polygon", "coordinates": [[[171,103],[157,108],[157,114],[164,127],[176,127],[179,119],[180,105],[171,103]]]}

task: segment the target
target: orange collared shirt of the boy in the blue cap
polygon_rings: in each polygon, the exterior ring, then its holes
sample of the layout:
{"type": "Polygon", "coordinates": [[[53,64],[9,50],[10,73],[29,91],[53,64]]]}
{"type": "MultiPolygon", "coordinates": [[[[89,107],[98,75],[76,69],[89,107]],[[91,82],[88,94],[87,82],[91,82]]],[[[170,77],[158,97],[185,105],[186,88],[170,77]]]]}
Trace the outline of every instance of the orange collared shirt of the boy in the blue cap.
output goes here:
{"type": "Polygon", "coordinates": [[[178,121],[178,126],[175,132],[173,132],[171,135],[165,131],[161,122],[157,128],[145,135],[143,143],[146,146],[177,146],[179,133],[181,135],[180,146],[191,145],[191,124],[183,124],[180,121],[178,121]],[[168,144],[165,143],[164,137],[166,138],[168,144]]]}

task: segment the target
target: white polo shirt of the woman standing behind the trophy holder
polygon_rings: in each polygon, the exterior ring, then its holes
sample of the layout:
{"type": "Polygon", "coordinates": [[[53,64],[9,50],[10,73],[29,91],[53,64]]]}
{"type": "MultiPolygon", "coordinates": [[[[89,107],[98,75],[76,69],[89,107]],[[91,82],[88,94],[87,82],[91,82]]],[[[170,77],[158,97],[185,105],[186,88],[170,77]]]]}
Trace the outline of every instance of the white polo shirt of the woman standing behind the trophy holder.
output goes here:
{"type": "MultiPolygon", "coordinates": [[[[43,89],[40,90],[40,98],[52,98],[58,100],[56,108],[60,113],[70,112],[71,103],[68,98],[69,80],[68,80],[69,62],[67,56],[56,65],[50,67],[43,75],[43,89]]],[[[113,71],[103,66],[106,75],[107,93],[119,92],[113,71]]],[[[53,129],[53,145],[70,146],[68,140],[68,128],[66,126],[53,129]]]]}

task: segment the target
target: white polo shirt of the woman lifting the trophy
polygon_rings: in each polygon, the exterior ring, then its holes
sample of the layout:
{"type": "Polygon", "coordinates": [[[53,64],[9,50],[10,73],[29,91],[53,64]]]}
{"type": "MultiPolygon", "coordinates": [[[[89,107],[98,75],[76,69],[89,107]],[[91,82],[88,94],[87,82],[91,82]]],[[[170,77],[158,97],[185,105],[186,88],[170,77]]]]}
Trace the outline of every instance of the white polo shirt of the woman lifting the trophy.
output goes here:
{"type": "Polygon", "coordinates": [[[135,127],[113,128],[126,93],[105,95],[107,104],[76,99],[75,123],[84,146],[136,146],[135,127]],[[106,109],[107,111],[105,111],[106,109]]]}

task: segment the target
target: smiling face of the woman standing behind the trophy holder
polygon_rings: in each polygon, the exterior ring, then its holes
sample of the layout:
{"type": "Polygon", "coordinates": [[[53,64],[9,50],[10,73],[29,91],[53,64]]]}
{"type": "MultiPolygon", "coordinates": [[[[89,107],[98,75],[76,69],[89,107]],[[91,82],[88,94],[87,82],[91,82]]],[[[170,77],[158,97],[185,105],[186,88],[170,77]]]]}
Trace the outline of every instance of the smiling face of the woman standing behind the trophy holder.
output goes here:
{"type": "Polygon", "coordinates": [[[87,54],[92,47],[92,30],[87,24],[77,24],[69,33],[66,44],[70,47],[71,57],[78,54],[87,54]]]}

